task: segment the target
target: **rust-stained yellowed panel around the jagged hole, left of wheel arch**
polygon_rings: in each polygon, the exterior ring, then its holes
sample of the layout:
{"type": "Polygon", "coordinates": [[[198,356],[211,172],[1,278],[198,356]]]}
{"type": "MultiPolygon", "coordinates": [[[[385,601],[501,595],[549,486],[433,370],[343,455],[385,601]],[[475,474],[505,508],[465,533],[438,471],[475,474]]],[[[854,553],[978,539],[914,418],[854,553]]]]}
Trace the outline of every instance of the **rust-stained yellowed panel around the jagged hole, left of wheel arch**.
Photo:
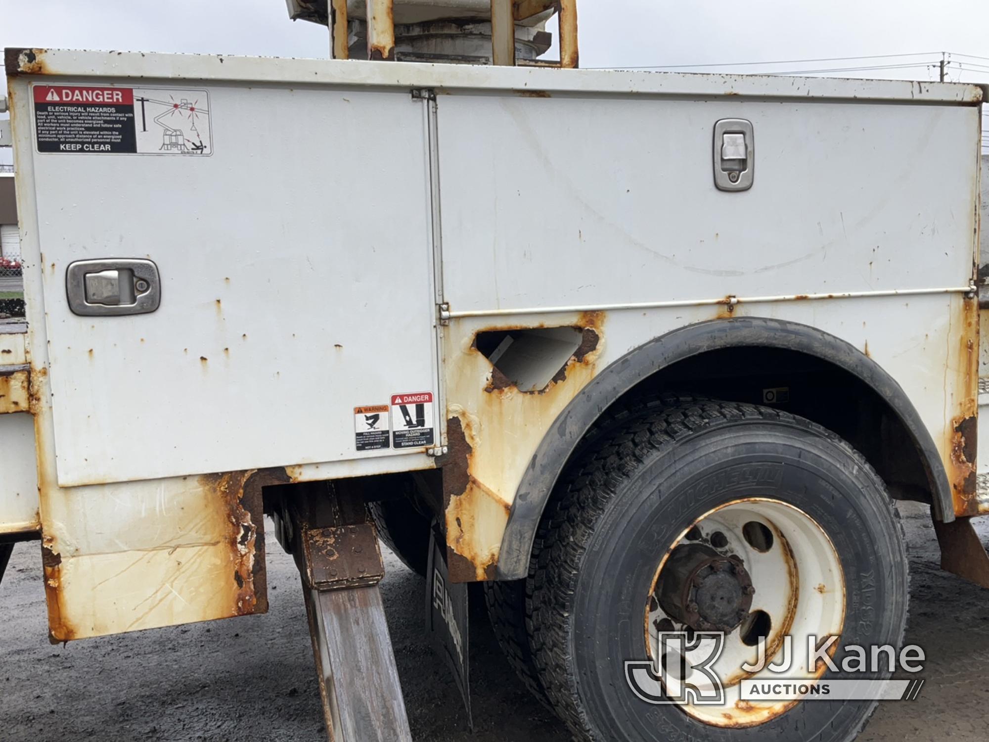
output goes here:
{"type": "Polygon", "coordinates": [[[451,323],[447,353],[447,446],[443,499],[454,582],[494,577],[501,536],[524,468],[550,426],[594,377],[603,348],[601,312],[560,326],[582,329],[580,347],[550,383],[523,392],[498,378],[474,338],[480,332],[545,325],[451,323]]]}

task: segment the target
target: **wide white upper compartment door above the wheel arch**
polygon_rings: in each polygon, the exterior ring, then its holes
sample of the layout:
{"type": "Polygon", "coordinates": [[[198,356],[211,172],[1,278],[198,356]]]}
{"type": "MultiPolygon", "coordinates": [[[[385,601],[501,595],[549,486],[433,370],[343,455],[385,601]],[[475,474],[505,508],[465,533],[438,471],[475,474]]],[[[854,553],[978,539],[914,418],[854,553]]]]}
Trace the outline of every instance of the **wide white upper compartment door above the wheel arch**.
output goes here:
{"type": "Polygon", "coordinates": [[[438,105],[452,313],[971,280],[970,250],[953,247],[975,229],[974,107],[471,95],[438,105]],[[755,128],[756,185],[744,193],[711,188],[711,131],[731,117],[755,128]]]}

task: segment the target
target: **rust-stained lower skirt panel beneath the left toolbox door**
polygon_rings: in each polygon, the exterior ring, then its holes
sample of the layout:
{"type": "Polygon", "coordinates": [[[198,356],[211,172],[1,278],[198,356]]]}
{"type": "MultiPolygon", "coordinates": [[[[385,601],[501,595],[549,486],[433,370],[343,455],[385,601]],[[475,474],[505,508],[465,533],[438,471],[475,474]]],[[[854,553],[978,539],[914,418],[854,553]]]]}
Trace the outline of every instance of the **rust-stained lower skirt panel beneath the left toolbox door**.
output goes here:
{"type": "Polygon", "coordinates": [[[264,469],[140,483],[128,495],[114,485],[49,491],[50,640],[265,612],[261,488],[290,481],[264,469]],[[78,532],[94,518],[115,525],[78,532]]]}

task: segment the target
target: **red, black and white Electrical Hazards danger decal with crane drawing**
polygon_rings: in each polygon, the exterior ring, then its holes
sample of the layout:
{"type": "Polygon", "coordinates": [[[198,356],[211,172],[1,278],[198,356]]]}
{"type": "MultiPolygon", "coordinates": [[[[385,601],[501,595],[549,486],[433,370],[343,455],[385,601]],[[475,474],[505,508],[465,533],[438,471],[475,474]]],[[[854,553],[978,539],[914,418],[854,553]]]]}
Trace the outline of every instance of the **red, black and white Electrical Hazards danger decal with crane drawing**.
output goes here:
{"type": "Polygon", "coordinates": [[[39,152],[213,154],[205,90],[34,85],[39,152]]]}

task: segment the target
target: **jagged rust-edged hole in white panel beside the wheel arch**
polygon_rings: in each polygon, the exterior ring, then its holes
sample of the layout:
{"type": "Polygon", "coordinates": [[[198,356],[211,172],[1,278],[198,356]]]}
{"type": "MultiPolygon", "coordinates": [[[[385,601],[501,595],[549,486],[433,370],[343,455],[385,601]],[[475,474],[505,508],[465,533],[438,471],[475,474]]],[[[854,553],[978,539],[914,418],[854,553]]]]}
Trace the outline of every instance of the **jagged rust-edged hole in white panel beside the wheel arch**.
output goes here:
{"type": "Polygon", "coordinates": [[[541,394],[567,378],[571,361],[583,363],[597,347],[590,327],[518,327],[478,332],[474,346],[492,364],[486,392],[515,388],[541,394]]]}

